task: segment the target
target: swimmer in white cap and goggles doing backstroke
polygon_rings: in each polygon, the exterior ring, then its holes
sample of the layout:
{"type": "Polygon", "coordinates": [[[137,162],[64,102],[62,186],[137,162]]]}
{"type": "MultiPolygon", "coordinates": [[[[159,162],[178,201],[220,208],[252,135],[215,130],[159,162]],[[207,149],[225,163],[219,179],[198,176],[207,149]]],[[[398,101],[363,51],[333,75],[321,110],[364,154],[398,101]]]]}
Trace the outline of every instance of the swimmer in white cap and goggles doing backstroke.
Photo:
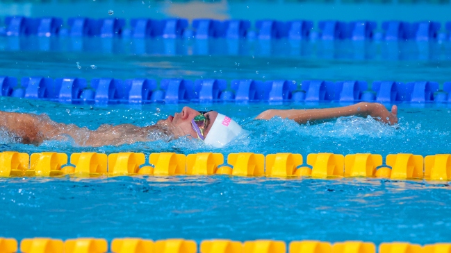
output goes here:
{"type": "MultiPolygon", "coordinates": [[[[388,112],[379,103],[357,103],[345,107],[311,110],[266,110],[255,119],[272,119],[280,116],[300,124],[321,123],[341,116],[361,116],[393,125],[397,123],[397,107],[393,105],[388,112]]],[[[13,138],[22,143],[39,145],[43,141],[72,137],[79,146],[106,146],[155,141],[156,139],[177,139],[190,136],[202,139],[204,143],[216,148],[227,145],[237,137],[243,128],[235,121],[215,111],[199,112],[183,107],[180,113],[168,116],[155,125],[138,127],[132,124],[101,125],[97,130],[79,128],[74,124],[66,125],[51,121],[48,116],[0,112],[0,130],[6,130],[13,138]]]]}

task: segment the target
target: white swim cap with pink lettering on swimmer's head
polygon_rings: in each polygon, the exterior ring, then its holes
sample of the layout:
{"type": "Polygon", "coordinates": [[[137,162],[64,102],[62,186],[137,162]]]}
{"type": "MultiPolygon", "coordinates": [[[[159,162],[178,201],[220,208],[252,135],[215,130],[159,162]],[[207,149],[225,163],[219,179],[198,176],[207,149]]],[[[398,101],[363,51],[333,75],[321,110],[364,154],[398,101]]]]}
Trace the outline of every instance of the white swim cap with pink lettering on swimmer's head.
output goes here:
{"type": "Polygon", "coordinates": [[[241,132],[243,132],[243,128],[236,121],[224,114],[218,114],[204,142],[215,148],[222,148],[241,132]]]}

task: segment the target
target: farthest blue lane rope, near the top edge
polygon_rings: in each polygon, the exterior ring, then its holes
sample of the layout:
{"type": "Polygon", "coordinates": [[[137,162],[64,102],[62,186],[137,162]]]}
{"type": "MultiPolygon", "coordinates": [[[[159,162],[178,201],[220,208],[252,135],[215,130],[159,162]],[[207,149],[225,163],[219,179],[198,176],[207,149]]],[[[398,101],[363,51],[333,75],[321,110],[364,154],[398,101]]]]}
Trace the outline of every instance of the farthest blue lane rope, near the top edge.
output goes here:
{"type": "Polygon", "coordinates": [[[313,22],[306,20],[277,21],[258,20],[251,29],[249,20],[194,19],[188,26],[187,19],[131,19],[126,28],[125,19],[90,19],[75,17],[67,20],[56,17],[28,18],[6,17],[6,27],[0,28],[0,35],[60,36],[100,36],[100,37],[195,37],[197,39],[226,37],[231,39],[258,38],[261,40],[288,38],[290,40],[451,40],[451,21],[445,24],[446,32],[441,33],[441,24],[434,21],[409,23],[404,21],[384,21],[382,33],[377,33],[375,21],[320,21],[318,30],[313,31],[313,22]]]}

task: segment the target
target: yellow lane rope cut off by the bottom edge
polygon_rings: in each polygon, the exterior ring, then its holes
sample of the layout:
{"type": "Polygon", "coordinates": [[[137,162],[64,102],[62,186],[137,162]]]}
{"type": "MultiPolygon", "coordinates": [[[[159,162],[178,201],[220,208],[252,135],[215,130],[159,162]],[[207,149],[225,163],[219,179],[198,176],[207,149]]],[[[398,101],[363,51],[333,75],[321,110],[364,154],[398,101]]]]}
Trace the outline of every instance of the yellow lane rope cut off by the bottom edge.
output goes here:
{"type": "MultiPolygon", "coordinates": [[[[379,253],[433,253],[450,252],[451,243],[436,243],[423,247],[413,243],[381,243],[379,253]]],[[[0,252],[18,252],[14,238],[0,237],[0,252]]],[[[24,238],[20,242],[20,252],[52,253],[286,253],[284,241],[256,240],[231,241],[227,239],[204,240],[199,247],[195,241],[167,239],[151,241],[142,238],[115,238],[110,243],[102,238],[76,238],[62,241],[54,238],[24,238]]],[[[345,241],[328,243],[322,241],[292,241],[288,245],[289,253],[375,253],[374,243],[345,241]]]]}

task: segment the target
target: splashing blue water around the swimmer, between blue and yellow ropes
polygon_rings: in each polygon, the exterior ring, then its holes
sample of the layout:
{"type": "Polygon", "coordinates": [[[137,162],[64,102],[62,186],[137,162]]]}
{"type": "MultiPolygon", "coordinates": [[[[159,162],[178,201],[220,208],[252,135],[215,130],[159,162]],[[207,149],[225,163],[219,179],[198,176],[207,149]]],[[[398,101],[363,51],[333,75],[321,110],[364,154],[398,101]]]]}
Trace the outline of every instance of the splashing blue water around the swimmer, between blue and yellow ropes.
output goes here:
{"type": "MultiPolygon", "coordinates": [[[[133,123],[140,126],[151,125],[159,119],[166,119],[174,112],[180,112],[186,105],[110,105],[93,107],[92,105],[65,105],[45,101],[31,101],[19,98],[0,97],[1,110],[9,112],[46,113],[50,119],[62,123],[74,123],[80,127],[95,130],[102,123],[133,123]],[[159,111],[159,112],[158,112],[159,111]]],[[[445,122],[451,119],[451,105],[414,105],[401,104],[400,122],[388,126],[374,119],[345,117],[337,121],[318,125],[298,125],[294,121],[275,118],[270,121],[253,120],[265,109],[308,109],[316,107],[339,106],[340,104],[189,104],[197,110],[217,110],[230,115],[249,130],[249,137],[237,139],[223,149],[213,149],[201,141],[182,137],[175,141],[149,141],[124,146],[104,146],[100,148],[75,146],[74,141],[46,141],[41,146],[10,143],[10,138],[3,134],[0,138],[0,151],[17,150],[22,152],[258,152],[270,154],[275,152],[296,152],[307,155],[311,152],[334,152],[350,154],[372,152],[388,155],[397,152],[409,152],[418,155],[450,153],[451,125],[445,122]]]]}

